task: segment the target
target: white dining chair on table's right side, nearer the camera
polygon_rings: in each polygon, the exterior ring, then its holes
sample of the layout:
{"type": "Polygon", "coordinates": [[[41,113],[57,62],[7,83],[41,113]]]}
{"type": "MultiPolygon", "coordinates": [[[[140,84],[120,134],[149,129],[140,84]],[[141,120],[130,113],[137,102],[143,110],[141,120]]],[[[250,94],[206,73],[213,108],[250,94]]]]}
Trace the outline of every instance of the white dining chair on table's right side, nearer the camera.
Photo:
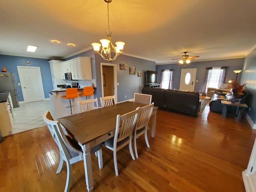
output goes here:
{"type": "Polygon", "coordinates": [[[106,148],[113,151],[114,156],[114,167],[116,176],[118,176],[116,152],[122,149],[124,146],[129,144],[130,154],[132,159],[135,160],[132,151],[132,132],[134,130],[135,122],[137,120],[138,110],[126,113],[124,115],[116,116],[116,130],[114,137],[106,140],[104,144],[106,148]]]}

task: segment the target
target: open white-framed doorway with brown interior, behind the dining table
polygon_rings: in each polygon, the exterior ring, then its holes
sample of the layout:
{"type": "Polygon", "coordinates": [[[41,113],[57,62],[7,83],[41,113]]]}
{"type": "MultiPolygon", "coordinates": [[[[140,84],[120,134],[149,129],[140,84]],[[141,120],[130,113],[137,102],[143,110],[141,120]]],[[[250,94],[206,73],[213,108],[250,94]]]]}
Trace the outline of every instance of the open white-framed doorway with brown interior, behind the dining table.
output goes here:
{"type": "Polygon", "coordinates": [[[116,64],[100,63],[102,97],[115,95],[117,100],[116,64]]]}

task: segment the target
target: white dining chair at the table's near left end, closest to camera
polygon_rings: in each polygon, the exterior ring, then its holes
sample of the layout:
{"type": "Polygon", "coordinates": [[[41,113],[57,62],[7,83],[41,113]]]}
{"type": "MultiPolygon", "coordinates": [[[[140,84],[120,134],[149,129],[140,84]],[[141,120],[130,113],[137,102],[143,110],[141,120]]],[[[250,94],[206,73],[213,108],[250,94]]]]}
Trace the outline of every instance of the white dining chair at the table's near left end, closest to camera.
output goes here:
{"type": "MultiPolygon", "coordinates": [[[[56,142],[60,150],[60,164],[56,173],[60,173],[63,162],[67,165],[67,178],[64,192],[70,191],[71,180],[72,180],[72,164],[83,160],[83,152],[79,144],[66,136],[60,127],[60,122],[54,121],[50,111],[46,111],[43,116],[44,122],[46,122],[48,129],[52,135],[52,138],[56,142]]],[[[102,144],[99,144],[91,149],[91,152],[97,152],[98,163],[100,169],[103,167],[102,161],[102,144]]]]}

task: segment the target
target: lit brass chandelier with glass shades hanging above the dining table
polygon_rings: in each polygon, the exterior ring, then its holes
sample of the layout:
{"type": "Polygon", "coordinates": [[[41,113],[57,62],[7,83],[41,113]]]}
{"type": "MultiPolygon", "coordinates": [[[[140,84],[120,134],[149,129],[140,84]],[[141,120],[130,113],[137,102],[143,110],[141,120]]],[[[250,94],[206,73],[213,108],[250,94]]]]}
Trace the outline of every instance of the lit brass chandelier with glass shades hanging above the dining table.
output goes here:
{"type": "MultiPolygon", "coordinates": [[[[112,0],[104,0],[107,4],[112,2],[112,0]]],[[[124,48],[124,42],[116,42],[116,46],[111,41],[111,34],[110,32],[110,27],[109,27],[109,9],[108,9],[108,32],[107,34],[107,39],[101,39],[100,43],[92,43],[93,49],[94,49],[94,54],[98,53],[104,60],[107,60],[109,62],[114,61],[121,53],[124,48]],[[100,51],[100,46],[102,46],[102,50],[100,51]],[[115,56],[111,58],[111,48],[115,52],[115,56]]]]}

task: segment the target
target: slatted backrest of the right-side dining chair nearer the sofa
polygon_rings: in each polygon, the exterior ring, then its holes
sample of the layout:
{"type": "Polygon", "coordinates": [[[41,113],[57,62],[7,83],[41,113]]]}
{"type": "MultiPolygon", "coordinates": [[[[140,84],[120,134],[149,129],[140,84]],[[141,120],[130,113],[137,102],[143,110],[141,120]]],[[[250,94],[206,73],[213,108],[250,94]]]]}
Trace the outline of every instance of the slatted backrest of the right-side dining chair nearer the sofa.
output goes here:
{"type": "Polygon", "coordinates": [[[136,108],[138,110],[138,118],[135,125],[135,130],[139,130],[148,125],[148,121],[152,114],[154,103],[146,105],[144,107],[136,108]]]}

